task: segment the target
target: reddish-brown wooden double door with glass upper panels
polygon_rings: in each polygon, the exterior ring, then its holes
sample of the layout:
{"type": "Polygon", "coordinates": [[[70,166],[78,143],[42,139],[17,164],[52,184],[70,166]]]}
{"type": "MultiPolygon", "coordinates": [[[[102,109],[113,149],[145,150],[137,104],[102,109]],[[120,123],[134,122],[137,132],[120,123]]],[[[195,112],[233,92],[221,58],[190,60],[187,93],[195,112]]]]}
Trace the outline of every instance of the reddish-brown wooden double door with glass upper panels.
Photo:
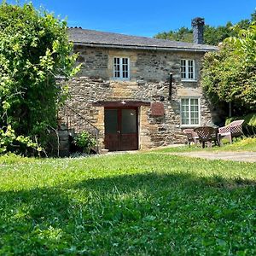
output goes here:
{"type": "Polygon", "coordinates": [[[137,108],[105,108],[105,148],[138,149],[137,108]]]}

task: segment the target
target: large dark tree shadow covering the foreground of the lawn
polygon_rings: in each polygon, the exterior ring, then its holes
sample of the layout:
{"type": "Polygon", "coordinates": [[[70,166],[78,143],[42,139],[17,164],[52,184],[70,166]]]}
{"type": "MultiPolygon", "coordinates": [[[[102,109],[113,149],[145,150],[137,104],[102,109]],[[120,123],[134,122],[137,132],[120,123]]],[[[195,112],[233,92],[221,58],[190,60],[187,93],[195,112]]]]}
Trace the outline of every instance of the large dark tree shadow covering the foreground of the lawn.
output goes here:
{"type": "Polygon", "coordinates": [[[254,180],[156,172],[1,192],[0,254],[250,250],[254,198],[254,180]]]}

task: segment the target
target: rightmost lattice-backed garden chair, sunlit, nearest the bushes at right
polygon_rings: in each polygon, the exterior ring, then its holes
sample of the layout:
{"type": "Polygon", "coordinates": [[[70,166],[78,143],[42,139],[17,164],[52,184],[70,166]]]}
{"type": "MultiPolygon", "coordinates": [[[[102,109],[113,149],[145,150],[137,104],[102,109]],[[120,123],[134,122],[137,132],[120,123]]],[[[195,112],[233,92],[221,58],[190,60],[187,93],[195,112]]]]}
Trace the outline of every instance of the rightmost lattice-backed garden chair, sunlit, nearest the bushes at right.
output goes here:
{"type": "Polygon", "coordinates": [[[243,119],[236,120],[231,122],[230,125],[218,128],[219,142],[221,143],[221,140],[225,137],[232,143],[233,137],[241,137],[243,135],[241,126],[243,122],[243,119]]]}

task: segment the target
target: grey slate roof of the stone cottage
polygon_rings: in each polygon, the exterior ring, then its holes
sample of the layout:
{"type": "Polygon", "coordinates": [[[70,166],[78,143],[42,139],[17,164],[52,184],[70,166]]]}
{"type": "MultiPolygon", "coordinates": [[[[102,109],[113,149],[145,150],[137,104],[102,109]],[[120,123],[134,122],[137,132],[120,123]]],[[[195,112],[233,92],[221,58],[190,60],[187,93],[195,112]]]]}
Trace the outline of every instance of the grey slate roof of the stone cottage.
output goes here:
{"type": "Polygon", "coordinates": [[[82,28],[69,28],[69,40],[74,44],[122,49],[162,49],[180,51],[212,51],[218,47],[206,44],[191,44],[165,39],[128,36],[113,32],[98,32],[82,28]]]}

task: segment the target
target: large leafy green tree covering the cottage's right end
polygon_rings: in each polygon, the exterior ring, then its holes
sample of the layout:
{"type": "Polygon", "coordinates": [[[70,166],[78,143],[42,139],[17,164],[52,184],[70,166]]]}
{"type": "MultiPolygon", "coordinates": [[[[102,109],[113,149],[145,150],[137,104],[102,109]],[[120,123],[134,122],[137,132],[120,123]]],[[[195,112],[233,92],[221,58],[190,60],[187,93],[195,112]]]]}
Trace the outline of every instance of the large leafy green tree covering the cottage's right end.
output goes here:
{"type": "Polygon", "coordinates": [[[237,114],[256,110],[256,23],[234,28],[219,51],[205,55],[202,84],[214,104],[232,102],[237,114]]]}

